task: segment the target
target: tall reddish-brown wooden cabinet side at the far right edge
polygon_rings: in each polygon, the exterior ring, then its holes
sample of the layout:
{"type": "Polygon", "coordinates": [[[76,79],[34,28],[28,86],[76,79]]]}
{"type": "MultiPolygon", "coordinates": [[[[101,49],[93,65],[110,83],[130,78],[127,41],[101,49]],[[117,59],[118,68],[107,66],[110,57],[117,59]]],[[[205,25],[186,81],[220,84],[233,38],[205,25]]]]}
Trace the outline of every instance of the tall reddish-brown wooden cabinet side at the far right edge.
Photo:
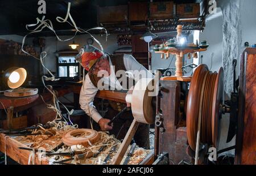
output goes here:
{"type": "Polygon", "coordinates": [[[236,164],[256,164],[256,48],[241,57],[236,164]]]}

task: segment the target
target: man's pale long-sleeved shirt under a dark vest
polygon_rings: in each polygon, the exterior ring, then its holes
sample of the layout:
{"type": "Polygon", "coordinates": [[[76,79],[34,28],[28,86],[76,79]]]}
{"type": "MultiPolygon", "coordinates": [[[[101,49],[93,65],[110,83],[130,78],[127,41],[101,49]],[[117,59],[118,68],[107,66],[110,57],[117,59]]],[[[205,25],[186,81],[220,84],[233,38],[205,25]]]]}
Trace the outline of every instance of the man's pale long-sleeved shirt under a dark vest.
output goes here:
{"type": "MultiPolygon", "coordinates": [[[[128,71],[127,74],[132,73],[130,74],[130,76],[134,78],[135,82],[137,82],[139,78],[139,76],[135,74],[138,74],[138,72],[141,72],[141,71],[143,72],[143,74],[140,75],[140,78],[154,79],[154,75],[152,75],[151,72],[148,71],[145,67],[143,67],[140,63],[138,63],[132,55],[124,54],[123,63],[125,64],[126,71],[128,71]]],[[[109,62],[109,65],[112,66],[111,61],[109,62]]],[[[110,76],[102,78],[104,79],[104,84],[110,83],[110,86],[114,85],[115,88],[122,88],[121,85],[119,84],[119,81],[117,80],[115,75],[112,73],[114,73],[114,70],[111,67],[110,76]]],[[[81,105],[81,109],[84,110],[87,115],[92,117],[93,120],[98,123],[98,121],[100,121],[102,117],[100,113],[98,113],[95,106],[93,105],[93,100],[97,91],[98,91],[98,88],[93,85],[92,81],[90,81],[89,75],[86,74],[84,83],[82,84],[79,102],[81,105]]]]}

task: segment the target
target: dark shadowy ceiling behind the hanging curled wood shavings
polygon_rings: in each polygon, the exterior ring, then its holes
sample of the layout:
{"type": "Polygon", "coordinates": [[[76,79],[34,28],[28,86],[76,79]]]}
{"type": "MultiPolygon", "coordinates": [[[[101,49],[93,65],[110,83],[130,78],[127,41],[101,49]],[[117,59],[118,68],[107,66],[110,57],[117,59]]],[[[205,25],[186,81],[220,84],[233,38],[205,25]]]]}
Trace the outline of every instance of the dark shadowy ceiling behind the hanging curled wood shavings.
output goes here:
{"type": "MultiPolygon", "coordinates": [[[[135,1],[135,0],[134,0],[135,1]]],[[[133,0],[46,0],[46,19],[50,19],[59,35],[72,35],[69,24],[56,22],[56,16],[65,17],[68,2],[71,2],[71,15],[78,27],[89,29],[97,27],[97,6],[127,5],[133,0]]],[[[138,2],[138,1],[135,1],[138,2]]],[[[142,2],[150,2],[144,0],[142,2]]],[[[160,1],[153,1],[160,2],[160,1]]],[[[201,2],[201,0],[176,0],[175,3],[201,2]]],[[[38,0],[7,0],[0,3],[0,35],[26,35],[26,24],[36,23],[38,14],[38,0]]],[[[52,32],[45,30],[41,36],[51,36],[52,32]]]]}

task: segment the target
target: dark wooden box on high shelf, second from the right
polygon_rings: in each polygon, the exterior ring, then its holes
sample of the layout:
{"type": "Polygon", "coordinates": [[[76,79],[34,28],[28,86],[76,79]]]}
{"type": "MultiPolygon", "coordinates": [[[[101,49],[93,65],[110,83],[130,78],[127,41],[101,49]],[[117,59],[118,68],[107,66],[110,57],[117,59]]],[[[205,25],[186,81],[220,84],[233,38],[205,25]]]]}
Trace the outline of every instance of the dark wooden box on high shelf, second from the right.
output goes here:
{"type": "Polygon", "coordinates": [[[174,2],[151,2],[150,19],[171,19],[174,17],[174,2]]]}

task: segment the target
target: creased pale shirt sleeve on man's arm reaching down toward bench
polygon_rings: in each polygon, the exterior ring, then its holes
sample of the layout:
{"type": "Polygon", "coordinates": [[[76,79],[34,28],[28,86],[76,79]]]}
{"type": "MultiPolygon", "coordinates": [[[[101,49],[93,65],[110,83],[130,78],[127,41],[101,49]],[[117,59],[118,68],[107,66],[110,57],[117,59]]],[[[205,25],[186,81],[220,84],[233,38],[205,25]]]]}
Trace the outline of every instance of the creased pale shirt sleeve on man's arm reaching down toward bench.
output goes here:
{"type": "Polygon", "coordinates": [[[89,75],[87,74],[80,91],[79,103],[81,109],[84,110],[87,115],[92,117],[93,120],[98,123],[102,117],[93,105],[93,100],[97,92],[98,89],[93,85],[92,81],[90,81],[89,75]]]}

